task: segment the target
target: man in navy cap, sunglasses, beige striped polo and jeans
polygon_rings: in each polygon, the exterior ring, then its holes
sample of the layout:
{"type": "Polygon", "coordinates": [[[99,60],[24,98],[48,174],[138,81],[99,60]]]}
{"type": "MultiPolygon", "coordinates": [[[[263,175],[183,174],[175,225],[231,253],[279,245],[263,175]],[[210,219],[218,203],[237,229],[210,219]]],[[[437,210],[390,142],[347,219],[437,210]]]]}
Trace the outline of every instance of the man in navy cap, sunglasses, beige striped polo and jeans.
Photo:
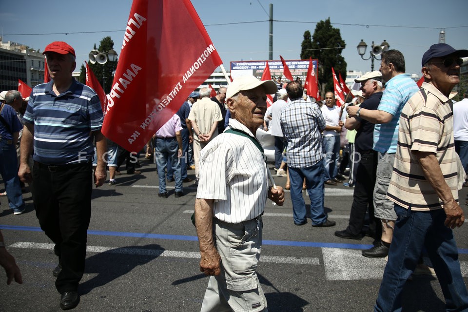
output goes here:
{"type": "Polygon", "coordinates": [[[457,155],[453,138],[452,88],[460,82],[461,57],[445,43],[422,59],[423,82],[403,107],[398,145],[387,196],[397,215],[374,311],[401,311],[401,293],[423,249],[444,294],[445,311],[468,311],[452,229],[465,221],[458,202],[457,155]]]}

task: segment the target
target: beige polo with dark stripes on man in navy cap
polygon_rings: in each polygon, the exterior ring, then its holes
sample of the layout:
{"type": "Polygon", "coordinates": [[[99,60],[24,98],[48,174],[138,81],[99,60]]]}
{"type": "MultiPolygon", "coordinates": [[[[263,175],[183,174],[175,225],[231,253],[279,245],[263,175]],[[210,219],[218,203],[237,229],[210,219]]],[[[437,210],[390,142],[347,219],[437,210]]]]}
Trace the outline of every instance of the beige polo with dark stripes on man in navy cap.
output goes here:
{"type": "Polygon", "coordinates": [[[434,153],[453,198],[458,202],[457,161],[451,98],[424,82],[400,115],[398,146],[387,197],[415,211],[441,209],[442,201],[426,180],[413,151],[434,153]]]}

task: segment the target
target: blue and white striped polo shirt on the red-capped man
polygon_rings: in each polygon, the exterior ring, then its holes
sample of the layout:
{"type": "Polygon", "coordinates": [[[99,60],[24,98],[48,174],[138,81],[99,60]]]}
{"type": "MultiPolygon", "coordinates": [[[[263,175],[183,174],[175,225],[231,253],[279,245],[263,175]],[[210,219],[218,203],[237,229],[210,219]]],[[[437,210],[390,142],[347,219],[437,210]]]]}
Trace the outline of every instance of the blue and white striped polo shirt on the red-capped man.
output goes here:
{"type": "Polygon", "coordinates": [[[33,159],[43,164],[90,161],[94,154],[90,133],[100,130],[104,120],[99,98],[75,79],[56,96],[53,83],[33,88],[23,116],[24,122],[34,124],[33,159]]]}

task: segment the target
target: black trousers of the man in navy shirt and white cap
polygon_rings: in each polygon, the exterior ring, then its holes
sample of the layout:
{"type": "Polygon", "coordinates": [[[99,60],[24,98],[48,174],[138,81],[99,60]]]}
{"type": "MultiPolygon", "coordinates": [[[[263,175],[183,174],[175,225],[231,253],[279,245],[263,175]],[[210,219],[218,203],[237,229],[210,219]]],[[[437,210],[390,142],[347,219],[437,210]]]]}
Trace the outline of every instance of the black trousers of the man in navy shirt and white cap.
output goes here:
{"type": "MultiPolygon", "coordinates": [[[[360,234],[364,228],[366,212],[369,211],[369,229],[370,232],[377,235],[382,231],[379,227],[380,222],[377,223],[375,221],[373,204],[373,190],[377,172],[377,152],[373,150],[360,151],[358,155],[360,155],[361,159],[358,159],[358,156],[356,155],[357,157],[355,157],[355,160],[359,161],[355,163],[357,170],[351,205],[350,222],[347,230],[353,235],[360,234]]],[[[380,237],[380,234],[378,237],[380,237]]]]}

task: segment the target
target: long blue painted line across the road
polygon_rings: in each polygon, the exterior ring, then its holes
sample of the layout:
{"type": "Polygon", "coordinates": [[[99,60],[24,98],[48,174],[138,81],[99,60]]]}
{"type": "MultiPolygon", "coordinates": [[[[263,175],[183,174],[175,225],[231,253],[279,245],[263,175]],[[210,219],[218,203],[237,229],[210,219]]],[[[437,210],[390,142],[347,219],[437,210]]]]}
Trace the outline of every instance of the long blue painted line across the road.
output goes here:
{"type": "MultiPolygon", "coordinates": [[[[15,225],[0,225],[1,230],[14,230],[14,231],[33,231],[41,232],[39,227],[28,226],[15,226],[15,225]]],[[[188,235],[169,235],[169,234],[151,234],[151,233],[132,233],[132,232],[112,232],[112,231],[95,231],[88,230],[90,235],[102,236],[123,236],[123,237],[138,237],[138,238],[155,238],[155,239],[169,239],[169,240],[186,240],[197,241],[198,237],[188,235]]],[[[263,245],[273,246],[293,246],[293,247],[315,247],[315,248],[343,248],[343,249],[368,249],[372,247],[369,244],[344,244],[344,243],[321,243],[321,242],[299,242],[291,240],[263,240],[263,245]]],[[[468,254],[468,249],[458,249],[459,254],[468,254]]]]}

